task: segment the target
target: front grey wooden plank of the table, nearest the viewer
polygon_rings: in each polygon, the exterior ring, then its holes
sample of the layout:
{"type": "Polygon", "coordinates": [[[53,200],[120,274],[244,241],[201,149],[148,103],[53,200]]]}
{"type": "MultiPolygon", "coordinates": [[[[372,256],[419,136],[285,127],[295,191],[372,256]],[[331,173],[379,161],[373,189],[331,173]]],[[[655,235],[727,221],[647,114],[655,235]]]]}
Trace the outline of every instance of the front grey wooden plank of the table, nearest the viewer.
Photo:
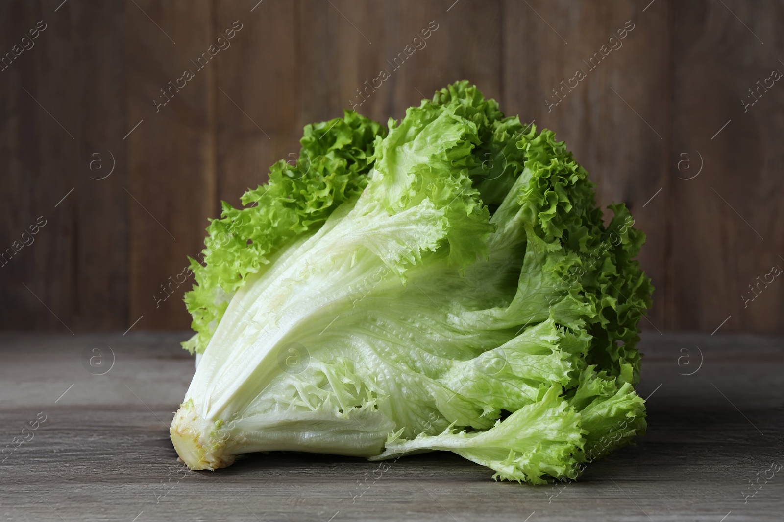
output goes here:
{"type": "MultiPolygon", "coordinates": [[[[3,412],[3,437],[35,413],[3,412]]],[[[760,425],[774,419],[780,432],[782,416],[769,413],[748,415],[760,425]]],[[[770,438],[760,443],[744,419],[724,411],[654,410],[636,446],[557,487],[496,483],[487,469],[448,453],[400,459],[384,472],[362,459],[298,453],[191,472],[141,406],[47,414],[34,439],[2,464],[5,517],[48,520],[56,511],[64,520],[132,520],[143,511],[138,520],[328,520],[339,512],[333,520],[519,521],[535,512],[531,520],[580,513],[582,520],[717,522],[731,511],[731,520],[779,520],[784,484],[774,479],[743,504],[746,481],[782,456],[770,438]]]]}

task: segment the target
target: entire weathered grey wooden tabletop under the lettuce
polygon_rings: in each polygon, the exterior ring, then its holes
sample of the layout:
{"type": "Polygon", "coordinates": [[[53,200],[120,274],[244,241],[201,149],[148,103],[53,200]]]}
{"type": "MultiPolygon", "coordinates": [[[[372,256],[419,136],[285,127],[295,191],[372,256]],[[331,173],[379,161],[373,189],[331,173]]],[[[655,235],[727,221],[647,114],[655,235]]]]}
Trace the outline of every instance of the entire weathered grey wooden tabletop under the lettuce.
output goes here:
{"type": "Polygon", "coordinates": [[[0,457],[2,520],[782,520],[780,337],[644,336],[648,434],[577,482],[532,486],[445,452],[383,473],[302,453],[185,470],[168,434],[185,336],[0,333],[0,448],[30,439],[0,457]],[[93,348],[104,375],[85,369],[93,348]]]}

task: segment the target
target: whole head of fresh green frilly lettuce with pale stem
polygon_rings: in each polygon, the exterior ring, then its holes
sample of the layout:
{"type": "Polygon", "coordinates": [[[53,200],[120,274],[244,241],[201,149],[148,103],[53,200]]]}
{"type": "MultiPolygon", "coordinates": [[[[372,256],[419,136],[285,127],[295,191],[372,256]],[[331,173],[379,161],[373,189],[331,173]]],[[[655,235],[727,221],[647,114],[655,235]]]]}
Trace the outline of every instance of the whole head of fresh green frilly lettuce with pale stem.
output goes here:
{"type": "Polygon", "coordinates": [[[604,225],[552,131],[460,81],[388,129],[347,111],[301,143],[191,260],[188,466],[448,450],[542,483],[644,432],[644,234],[622,204],[604,225]]]}

